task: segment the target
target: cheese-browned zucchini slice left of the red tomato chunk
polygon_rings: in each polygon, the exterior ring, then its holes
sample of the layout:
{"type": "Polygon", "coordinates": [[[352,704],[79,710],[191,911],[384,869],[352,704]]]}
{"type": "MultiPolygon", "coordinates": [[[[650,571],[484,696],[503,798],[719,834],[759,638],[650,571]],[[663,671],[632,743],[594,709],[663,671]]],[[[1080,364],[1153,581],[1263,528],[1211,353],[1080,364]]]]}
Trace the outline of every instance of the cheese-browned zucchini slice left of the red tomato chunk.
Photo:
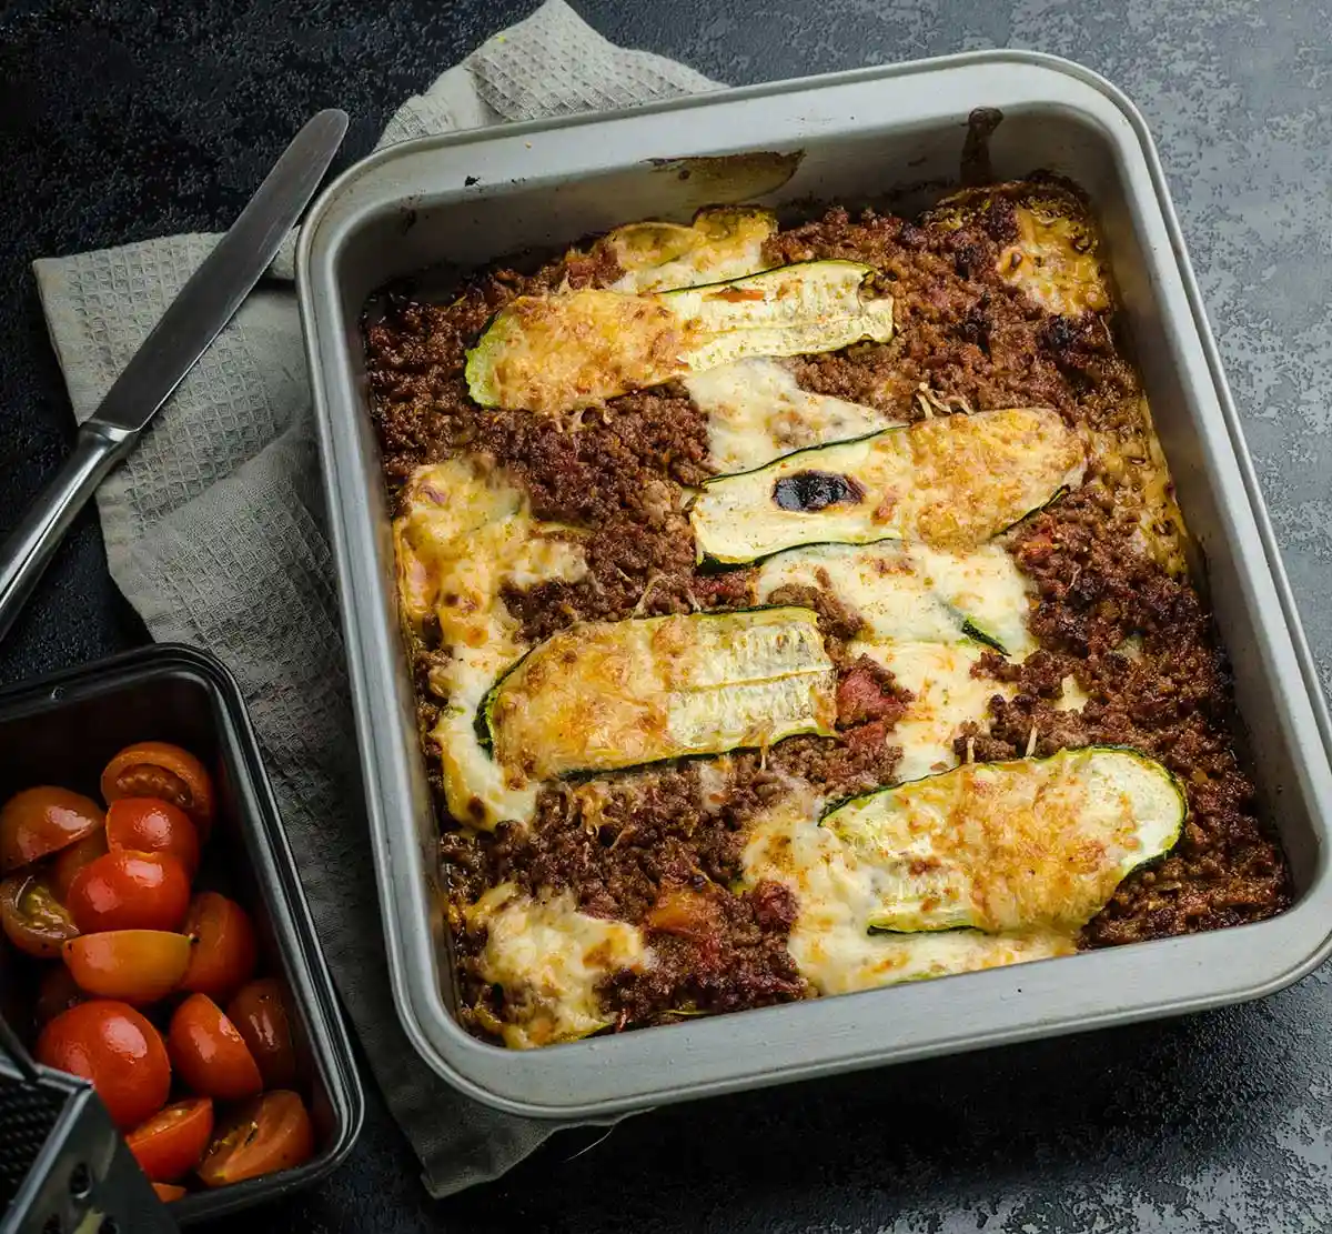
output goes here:
{"type": "Polygon", "coordinates": [[[527,653],[478,722],[527,780],[831,736],[836,674],[805,608],[587,622],[527,653]]]}

